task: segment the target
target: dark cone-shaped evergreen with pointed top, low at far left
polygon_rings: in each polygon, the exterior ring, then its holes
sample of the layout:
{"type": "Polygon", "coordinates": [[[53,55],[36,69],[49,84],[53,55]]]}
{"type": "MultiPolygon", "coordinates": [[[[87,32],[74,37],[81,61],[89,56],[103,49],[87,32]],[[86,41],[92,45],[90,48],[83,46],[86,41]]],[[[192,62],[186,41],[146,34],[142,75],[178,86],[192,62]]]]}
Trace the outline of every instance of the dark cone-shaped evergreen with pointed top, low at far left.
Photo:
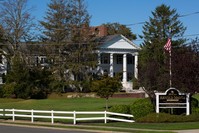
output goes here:
{"type": "Polygon", "coordinates": [[[12,58],[12,69],[6,75],[6,83],[4,87],[4,96],[14,95],[16,98],[29,98],[29,70],[24,65],[21,55],[16,53],[12,58]],[[6,91],[9,90],[9,91],[6,91]],[[11,91],[12,90],[12,91],[11,91]],[[9,92],[9,93],[8,93],[9,92]]]}

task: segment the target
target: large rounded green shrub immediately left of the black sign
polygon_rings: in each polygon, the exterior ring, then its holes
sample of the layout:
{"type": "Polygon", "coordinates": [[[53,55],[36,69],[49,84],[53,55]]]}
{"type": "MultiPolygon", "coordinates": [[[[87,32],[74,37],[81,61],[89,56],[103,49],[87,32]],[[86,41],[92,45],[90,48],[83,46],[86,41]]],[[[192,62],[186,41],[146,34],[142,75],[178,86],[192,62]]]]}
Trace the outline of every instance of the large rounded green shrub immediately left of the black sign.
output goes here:
{"type": "Polygon", "coordinates": [[[138,119],[154,112],[154,107],[150,99],[139,99],[130,105],[130,111],[134,118],[138,119]]]}

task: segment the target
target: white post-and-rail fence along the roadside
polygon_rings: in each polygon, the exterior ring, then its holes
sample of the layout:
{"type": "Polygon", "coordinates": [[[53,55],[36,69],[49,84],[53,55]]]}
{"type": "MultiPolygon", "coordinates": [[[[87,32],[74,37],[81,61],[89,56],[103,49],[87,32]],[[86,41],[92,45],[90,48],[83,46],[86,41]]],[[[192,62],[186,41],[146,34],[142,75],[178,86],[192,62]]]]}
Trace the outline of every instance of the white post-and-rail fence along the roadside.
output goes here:
{"type": "Polygon", "coordinates": [[[130,119],[114,118],[114,116],[122,116],[127,118],[133,118],[133,115],[114,113],[108,111],[99,112],[83,112],[83,111],[45,111],[45,110],[19,110],[19,109],[0,109],[0,118],[12,117],[15,121],[17,117],[30,118],[33,123],[35,118],[46,118],[51,119],[51,123],[54,123],[55,119],[68,119],[73,120],[75,125],[77,121],[88,121],[88,120],[104,120],[107,123],[108,120],[121,121],[121,122],[135,122],[130,119]],[[78,115],[86,115],[87,117],[77,117],[78,115]],[[88,117],[88,115],[98,115],[98,117],[88,117]],[[101,115],[99,117],[99,115],[101,115]]]}

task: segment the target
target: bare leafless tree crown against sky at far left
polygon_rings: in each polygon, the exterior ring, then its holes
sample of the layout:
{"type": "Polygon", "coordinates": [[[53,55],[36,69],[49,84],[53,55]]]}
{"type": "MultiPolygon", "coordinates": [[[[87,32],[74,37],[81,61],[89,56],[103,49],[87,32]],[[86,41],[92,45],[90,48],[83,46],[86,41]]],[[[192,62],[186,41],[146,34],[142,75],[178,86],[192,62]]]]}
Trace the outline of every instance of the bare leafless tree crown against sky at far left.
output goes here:
{"type": "Polygon", "coordinates": [[[20,42],[32,37],[30,31],[35,25],[31,10],[27,8],[27,0],[5,0],[0,6],[0,22],[14,51],[20,42]]]}

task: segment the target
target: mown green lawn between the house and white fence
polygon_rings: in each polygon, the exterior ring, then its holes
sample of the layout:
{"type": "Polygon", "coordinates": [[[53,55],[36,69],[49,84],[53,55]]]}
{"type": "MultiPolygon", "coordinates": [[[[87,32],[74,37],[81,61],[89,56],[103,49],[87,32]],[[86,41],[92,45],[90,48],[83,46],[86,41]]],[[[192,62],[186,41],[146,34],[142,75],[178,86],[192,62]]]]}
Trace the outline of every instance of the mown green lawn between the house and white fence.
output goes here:
{"type": "MultiPolygon", "coordinates": [[[[130,104],[135,100],[133,98],[110,98],[108,105],[130,104]]],[[[0,99],[0,109],[5,108],[55,111],[104,111],[105,100],[101,98],[0,99]]]]}

